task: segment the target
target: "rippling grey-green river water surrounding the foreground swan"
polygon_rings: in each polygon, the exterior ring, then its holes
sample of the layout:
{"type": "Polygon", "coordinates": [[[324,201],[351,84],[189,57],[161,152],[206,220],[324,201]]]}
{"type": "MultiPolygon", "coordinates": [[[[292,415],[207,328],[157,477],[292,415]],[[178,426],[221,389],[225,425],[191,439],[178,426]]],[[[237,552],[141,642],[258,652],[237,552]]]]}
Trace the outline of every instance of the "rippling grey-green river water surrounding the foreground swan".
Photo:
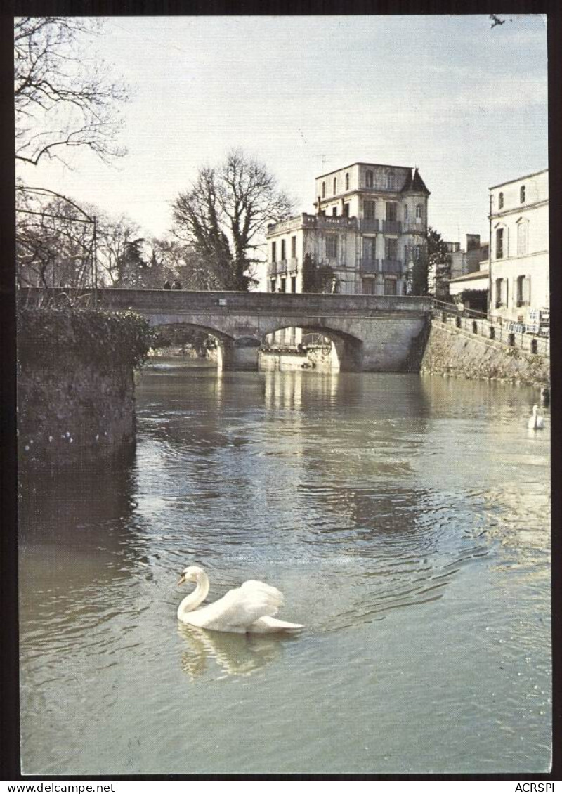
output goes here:
{"type": "Polygon", "coordinates": [[[25,773],[549,768],[549,415],[525,387],[157,360],[117,472],[22,484],[25,773]],[[298,637],[188,630],[274,584],[298,637]]]}

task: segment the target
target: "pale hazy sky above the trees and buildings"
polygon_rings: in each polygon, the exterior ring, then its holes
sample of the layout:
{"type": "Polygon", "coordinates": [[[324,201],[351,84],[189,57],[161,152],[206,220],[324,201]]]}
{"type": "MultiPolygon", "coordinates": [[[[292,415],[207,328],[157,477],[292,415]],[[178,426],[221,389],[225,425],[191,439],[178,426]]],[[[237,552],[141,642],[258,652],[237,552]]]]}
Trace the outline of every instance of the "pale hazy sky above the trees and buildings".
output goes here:
{"type": "Polygon", "coordinates": [[[198,167],[241,147],[314,211],[314,177],[418,166],[429,223],[487,240],[488,187],[548,167],[544,16],[110,17],[85,57],[133,87],[113,167],[26,166],[29,184],[127,214],[147,236],[198,167]],[[95,51],[95,52],[94,52],[95,51]]]}

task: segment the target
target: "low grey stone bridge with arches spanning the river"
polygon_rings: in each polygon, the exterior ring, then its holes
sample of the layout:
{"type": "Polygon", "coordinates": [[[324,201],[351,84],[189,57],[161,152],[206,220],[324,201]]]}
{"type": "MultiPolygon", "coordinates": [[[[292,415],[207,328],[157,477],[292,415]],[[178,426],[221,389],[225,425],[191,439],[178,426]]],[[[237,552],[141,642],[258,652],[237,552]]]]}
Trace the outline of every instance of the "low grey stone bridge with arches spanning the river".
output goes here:
{"type": "MultiPolygon", "coordinates": [[[[33,301],[44,291],[26,289],[21,294],[33,301]]],[[[206,331],[217,339],[219,367],[225,369],[257,369],[258,349],[269,333],[302,328],[332,340],[333,368],[403,372],[417,368],[431,300],[410,295],[99,289],[98,306],[130,308],[152,326],[183,323],[206,331]]]]}

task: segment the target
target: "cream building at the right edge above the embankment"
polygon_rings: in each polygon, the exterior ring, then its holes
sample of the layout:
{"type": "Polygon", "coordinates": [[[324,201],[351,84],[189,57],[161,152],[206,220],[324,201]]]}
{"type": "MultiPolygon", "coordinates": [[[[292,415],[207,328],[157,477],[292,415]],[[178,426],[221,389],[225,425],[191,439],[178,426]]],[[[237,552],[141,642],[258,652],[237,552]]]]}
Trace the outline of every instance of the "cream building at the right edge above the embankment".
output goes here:
{"type": "Polygon", "coordinates": [[[549,171],[490,191],[491,314],[531,323],[549,306],[549,171]]]}

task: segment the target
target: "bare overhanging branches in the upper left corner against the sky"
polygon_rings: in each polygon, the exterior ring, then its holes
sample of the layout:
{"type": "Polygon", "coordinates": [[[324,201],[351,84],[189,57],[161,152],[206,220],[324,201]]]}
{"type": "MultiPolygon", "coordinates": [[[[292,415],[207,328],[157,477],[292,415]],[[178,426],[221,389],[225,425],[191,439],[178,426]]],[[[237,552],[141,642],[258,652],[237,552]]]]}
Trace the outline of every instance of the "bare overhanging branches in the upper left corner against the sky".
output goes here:
{"type": "Polygon", "coordinates": [[[14,25],[16,159],[37,165],[64,147],[87,147],[102,160],[116,145],[117,105],[128,98],[105,64],[87,63],[87,36],[100,23],[81,17],[17,17],[14,25]]]}

